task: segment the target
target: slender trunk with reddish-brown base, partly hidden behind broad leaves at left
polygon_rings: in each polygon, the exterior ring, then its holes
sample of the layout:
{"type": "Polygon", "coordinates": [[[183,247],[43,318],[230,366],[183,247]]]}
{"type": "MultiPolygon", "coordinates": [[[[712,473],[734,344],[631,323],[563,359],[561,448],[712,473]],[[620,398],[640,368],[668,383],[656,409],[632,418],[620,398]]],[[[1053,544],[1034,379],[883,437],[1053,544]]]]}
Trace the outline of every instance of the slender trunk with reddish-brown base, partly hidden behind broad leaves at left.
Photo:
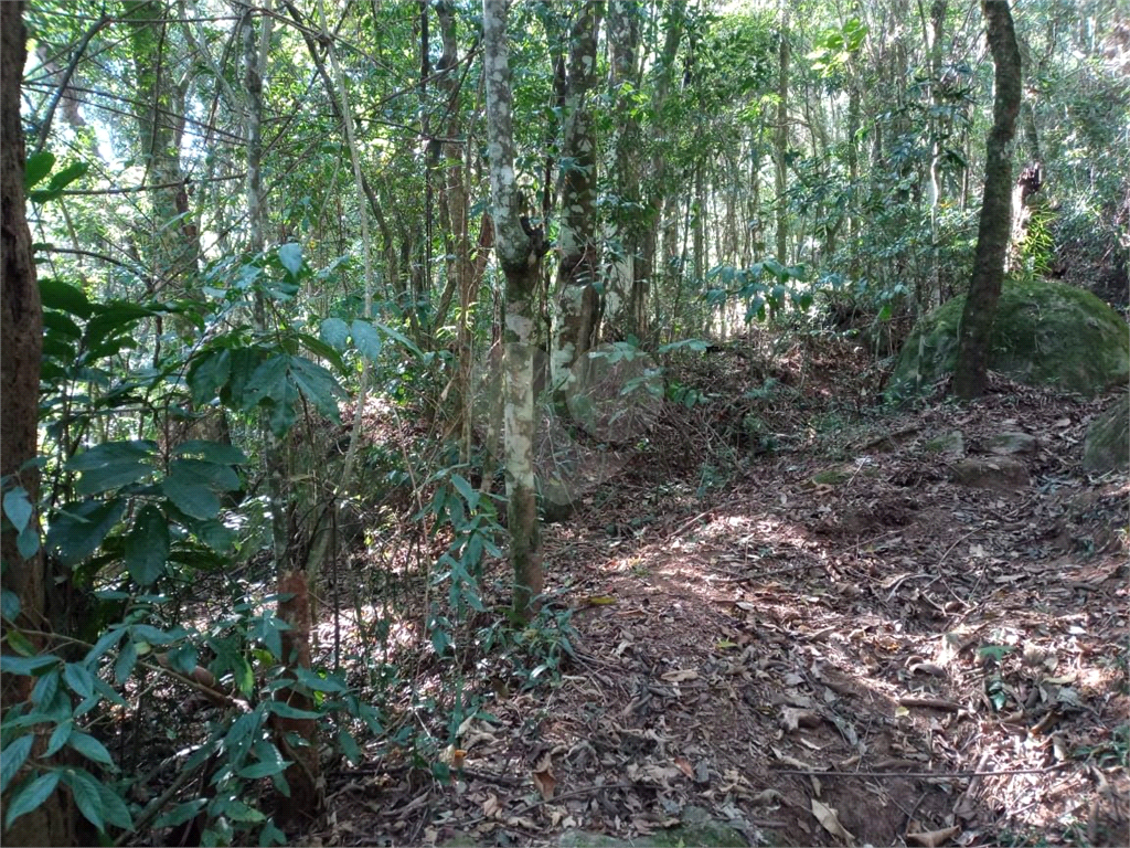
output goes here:
{"type": "MultiPolygon", "coordinates": [[[[267,46],[271,40],[271,18],[264,17],[262,32],[257,38],[254,11],[244,8],[241,24],[244,61],[244,89],[247,98],[247,248],[259,254],[267,244],[266,191],[262,181],[262,119],[263,72],[267,46]]],[[[254,303],[255,329],[267,331],[267,304],[262,293],[254,303]]],[[[263,444],[262,456],[267,474],[267,490],[271,509],[271,537],[275,568],[278,572],[278,616],[289,625],[282,638],[281,660],[293,675],[295,668],[310,668],[311,597],[306,573],[294,562],[290,550],[289,495],[286,479],[286,459],[282,445],[264,413],[260,419],[263,444]]],[[[298,710],[310,711],[310,695],[297,687],[284,687],[276,698],[298,710]]],[[[314,820],[322,806],[321,765],[315,738],[316,725],[311,719],[273,716],[276,744],[282,756],[290,761],[284,776],[290,795],[280,805],[278,819],[284,827],[301,827],[314,820]],[[297,743],[292,744],[290,739],[297,743]]]]}

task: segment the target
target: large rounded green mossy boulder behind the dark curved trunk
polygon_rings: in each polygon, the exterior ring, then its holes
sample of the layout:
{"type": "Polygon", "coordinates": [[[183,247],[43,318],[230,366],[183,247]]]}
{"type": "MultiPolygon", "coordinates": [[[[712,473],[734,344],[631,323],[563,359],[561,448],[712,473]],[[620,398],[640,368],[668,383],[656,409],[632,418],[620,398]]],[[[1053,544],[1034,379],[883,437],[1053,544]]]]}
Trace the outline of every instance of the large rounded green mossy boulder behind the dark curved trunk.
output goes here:
{"type": "MultiPolygon", "coordinates": [[[[903,345],[888,396],[906,398],[954,371],[965,297],[921,319],[903,345]]],[[[1130,330],[1090,292],[1050,280],[1005,283],[989,369],[1029,386],[1095,397],[1130,379],[1130,330]]]]}

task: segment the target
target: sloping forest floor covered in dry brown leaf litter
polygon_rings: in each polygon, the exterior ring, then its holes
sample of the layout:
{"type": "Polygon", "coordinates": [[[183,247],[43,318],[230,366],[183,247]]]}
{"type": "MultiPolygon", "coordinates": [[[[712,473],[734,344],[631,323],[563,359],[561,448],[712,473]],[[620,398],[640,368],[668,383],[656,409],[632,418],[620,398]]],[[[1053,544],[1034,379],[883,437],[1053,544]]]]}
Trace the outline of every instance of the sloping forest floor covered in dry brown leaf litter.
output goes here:
{"type": "MultiPolygon", "coordinates": [[[[851,344],[757,349],[679,366],[713,400],[545,528],[573,654],[523,687],[469,652],[488,715],[438,754],[452,779],[374,742],[312,842],[693,845],[704,819],[714,843],[1130,842],[1130,486],[1080,467],[1110,398],[869,409],[851,344]]],[[[397,665],[429,726],[451,681],[420,641],[397,665]]]]}

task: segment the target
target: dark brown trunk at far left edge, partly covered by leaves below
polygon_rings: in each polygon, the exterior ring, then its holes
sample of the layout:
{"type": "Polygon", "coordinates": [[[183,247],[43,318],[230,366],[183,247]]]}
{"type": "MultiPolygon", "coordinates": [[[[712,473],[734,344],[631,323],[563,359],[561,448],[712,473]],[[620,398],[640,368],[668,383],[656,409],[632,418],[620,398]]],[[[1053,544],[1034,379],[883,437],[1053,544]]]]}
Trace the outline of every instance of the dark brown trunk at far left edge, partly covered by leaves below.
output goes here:
{"type": "MultiPolygon", "coordinates": [[[[37,453],[40,413],[40,362],[43,353],[43,306],[32,259],[32,233],[24,208],[24,132],[20,126],[19,88],[24,76],[27,46],[24,31],[24,3],[0,3],[0,477],[3,494],[16,487],[26,492],[32,507],[28,525],[38,534],[40,470],[37,453]]],[[[42,547],[31,556],[20,553],[18,534],[10,525],[0,534],[0,559],[5,565],[5,589],[19,598],[20,629],[45,631],[46,563],[42,547]]],[[[25,551],[26,551],[25,546],[25,551]]],[[[7,652],[9,630],[3,628],[7,652]]],[[[41,639],[25,637],[35,648],[41,639]]],[[[3,711],[27,701],[32,677],[5,675],[0,678],[3,711]]],[[[46,725],[34,751],[46,746],[46,725]]],[[[20,786],[17,776],[11,786],[20,786]]],[[[0,821],[9,797],[0,798],[0,821]]],[[[17,819],[3,831],[5,845],[73,845],[75,816],[62,787],[58,787],[36,810],[17,819]]]]}

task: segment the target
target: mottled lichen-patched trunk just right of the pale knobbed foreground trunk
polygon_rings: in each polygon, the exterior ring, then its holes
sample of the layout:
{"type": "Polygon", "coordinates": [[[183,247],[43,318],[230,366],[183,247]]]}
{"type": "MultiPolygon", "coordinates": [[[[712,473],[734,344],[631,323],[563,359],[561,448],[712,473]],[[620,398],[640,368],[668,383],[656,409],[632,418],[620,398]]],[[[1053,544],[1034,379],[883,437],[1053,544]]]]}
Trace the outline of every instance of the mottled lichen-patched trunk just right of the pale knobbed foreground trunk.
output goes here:
{"type": "Polygon", "coordinates": [[[557,298],[549,357],[555,388],[597,343],[601,297],[597,287],[597,133],[589,102],[597,80],[597,33],[603,3],[586,0],[570,32],[570,55],[562,140],[562,220],[557,298]]]}

